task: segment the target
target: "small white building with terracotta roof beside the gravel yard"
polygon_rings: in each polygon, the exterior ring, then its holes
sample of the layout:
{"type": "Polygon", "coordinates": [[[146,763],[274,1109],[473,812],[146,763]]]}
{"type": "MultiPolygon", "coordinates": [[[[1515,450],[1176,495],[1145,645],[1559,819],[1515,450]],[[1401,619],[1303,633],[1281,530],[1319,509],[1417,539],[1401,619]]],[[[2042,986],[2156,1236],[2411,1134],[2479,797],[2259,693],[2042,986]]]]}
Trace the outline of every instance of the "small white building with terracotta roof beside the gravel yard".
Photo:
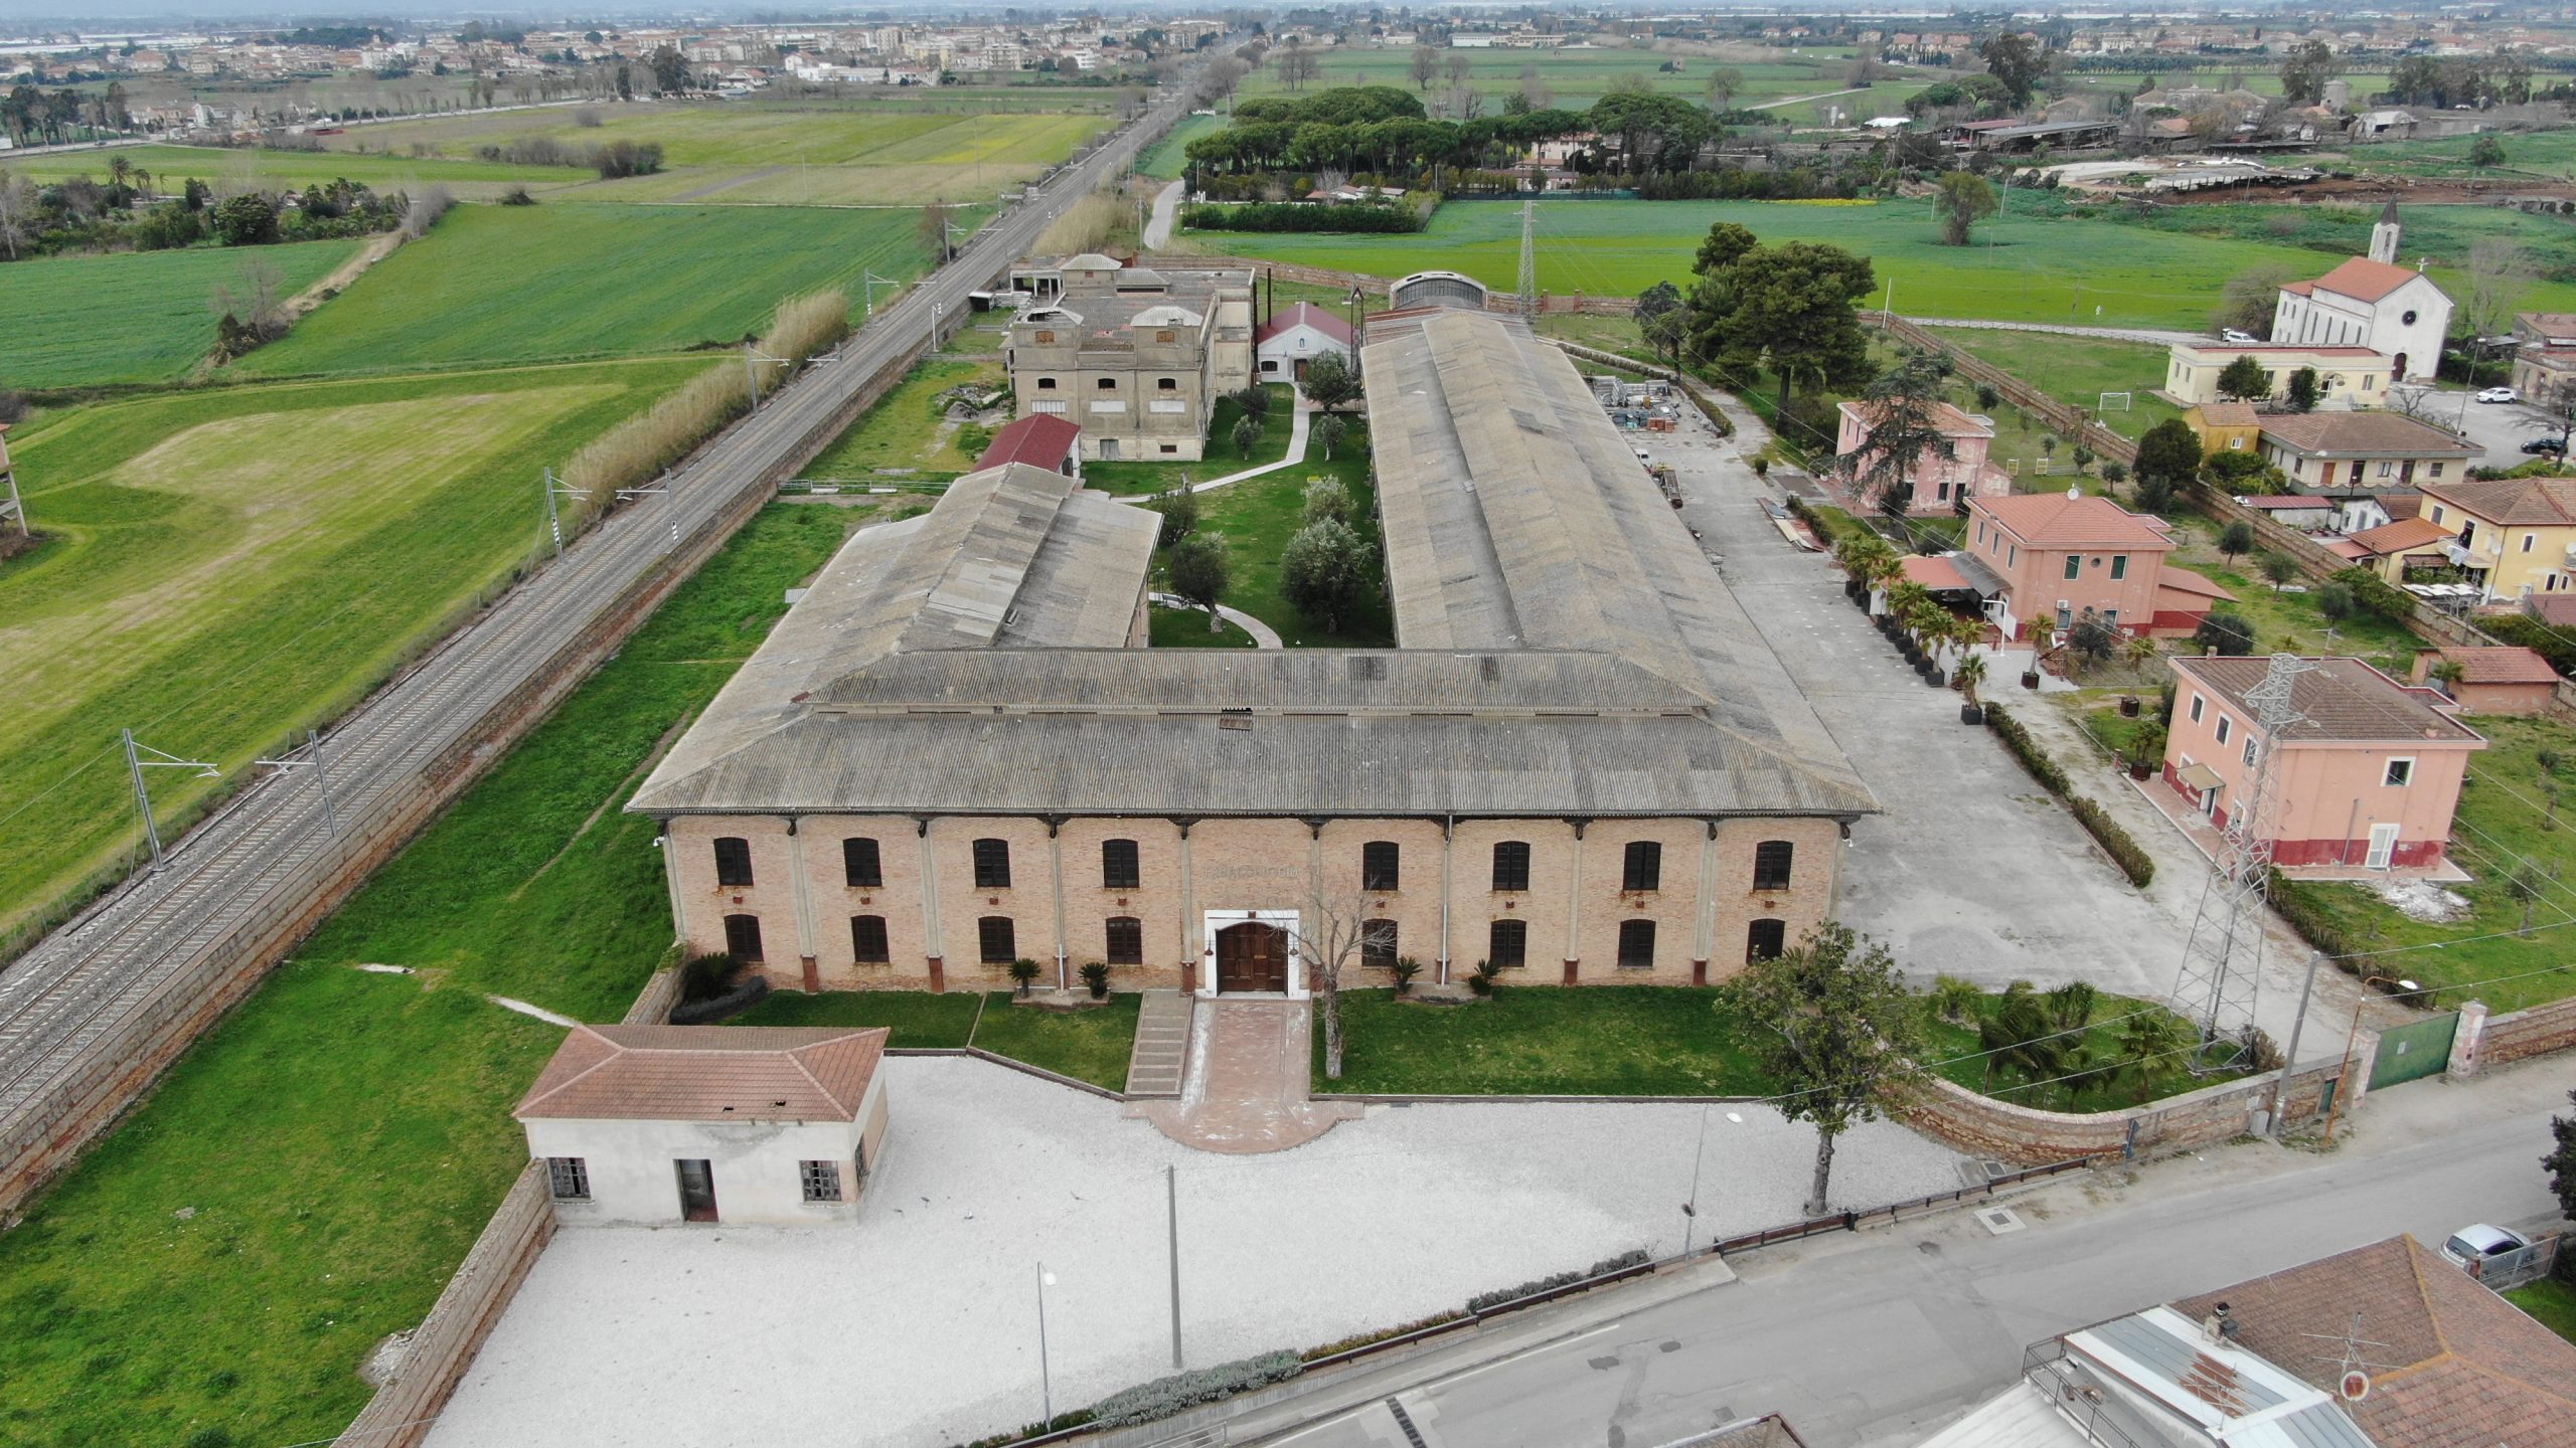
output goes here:
{"type": "Polygon", "coordinates": [[[562,1224],[853,1221],[884,1054],[884,1028],[574,1025],[513,1116],[562,1224]]]}

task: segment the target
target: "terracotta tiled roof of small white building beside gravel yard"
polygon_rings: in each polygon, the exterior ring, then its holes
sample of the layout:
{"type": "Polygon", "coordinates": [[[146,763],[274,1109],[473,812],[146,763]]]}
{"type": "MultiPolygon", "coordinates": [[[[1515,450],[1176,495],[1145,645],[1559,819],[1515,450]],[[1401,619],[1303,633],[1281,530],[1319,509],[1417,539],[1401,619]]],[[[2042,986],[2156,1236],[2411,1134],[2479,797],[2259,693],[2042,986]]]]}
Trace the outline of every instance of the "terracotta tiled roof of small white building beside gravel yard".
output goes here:
{"type": "Polygon", "coordinates": [[[515,1118],[858,1121],[886,1031],[574,1025],[515,1118]]]}

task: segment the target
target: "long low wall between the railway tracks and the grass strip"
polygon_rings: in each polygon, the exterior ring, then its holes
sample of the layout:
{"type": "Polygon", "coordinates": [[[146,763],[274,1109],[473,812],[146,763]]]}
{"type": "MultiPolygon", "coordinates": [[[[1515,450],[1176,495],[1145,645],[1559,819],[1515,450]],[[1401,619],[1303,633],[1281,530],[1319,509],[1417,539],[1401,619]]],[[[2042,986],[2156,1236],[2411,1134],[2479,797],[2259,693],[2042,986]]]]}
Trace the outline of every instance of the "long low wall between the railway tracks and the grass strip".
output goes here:
{"type": "MultiPolygon", "coordinates": [[[[567,693],[605,662],[636,626],[698,567],[721,549],[806,459],[819,453],[842,428],[866,412],[878,397],[922,358],[922,345],[907,348],[878,368],[822,423],[806,430],[781,461],[750,474],[732,502],[688,533],[680,546],[654,567],[636,575],[616,603],[605,605],[572,642],[559,647],[518,688],[502,696],[471,732],[420,768],[410,796],[392,804],[374,830],[353,832],[340,843],[337,861],[330,861],[301,886],[263,902],[245,915],[224,938],[209,946],[193,969],[173,974],[139,1007],[129,1010],[124,1025],[100,1038],[54,1087],[52,1108],[31,1116],[10,1139],[0,1139],[0,1214],[21,1206],[62,1172],[82,1147],[106,1131],[149,1085],[165,1072],[209,1025],[260,984],[278,958],[312,933],[350,891],[438,817],[464,788],[482,776],[502,752],[528,734],[567,693]]],[[[724,433],[719,433],[721,438],[724,433]]],[[[708,438],[706,446],[711,446],[708,438]]],[[[685,464],[683,464],[685,466],[685,464]]],[[[420,670],[440,649],[464,636],[471,618],[461,621],[438,649],[430,649],[412,670],[386,680],[368,698],[384,698],[410,672],[420,670]]],[[[366,703],[361,703],[366,709],[366,703]]],[[[237,806],[240,799],[234,796],[237,806]]],[[[209,819],[211,822],[211,819],[209,819]]],[[[206,824],[198,824],[204,830],[206,824]]],[[[139,876],[137,876],[139,879],[139,876]]],[[[100,902],[103,904],[103,902],[100,902]]],[[[93,907],[95,910],[95,907],[93,907]]]]}

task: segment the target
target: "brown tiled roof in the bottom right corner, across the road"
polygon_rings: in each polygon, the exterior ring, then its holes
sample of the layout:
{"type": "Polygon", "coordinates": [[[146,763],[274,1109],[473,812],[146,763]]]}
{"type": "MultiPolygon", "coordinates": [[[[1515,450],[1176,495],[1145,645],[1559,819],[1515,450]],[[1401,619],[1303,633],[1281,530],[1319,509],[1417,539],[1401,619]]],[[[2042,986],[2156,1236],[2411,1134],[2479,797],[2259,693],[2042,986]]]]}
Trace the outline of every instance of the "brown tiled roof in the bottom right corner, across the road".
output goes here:
{"type": "Polygon", "coordinates": [[[2342,1342],[2367,1340],[2370,1394],[2342,1409],[2380,1448],[2576,1448],[2576,1348],[2414,1237],[2172,1306],[2200,1319],[2221,1301],[2239,1348],[2326,1391],[2342,1342]]]}

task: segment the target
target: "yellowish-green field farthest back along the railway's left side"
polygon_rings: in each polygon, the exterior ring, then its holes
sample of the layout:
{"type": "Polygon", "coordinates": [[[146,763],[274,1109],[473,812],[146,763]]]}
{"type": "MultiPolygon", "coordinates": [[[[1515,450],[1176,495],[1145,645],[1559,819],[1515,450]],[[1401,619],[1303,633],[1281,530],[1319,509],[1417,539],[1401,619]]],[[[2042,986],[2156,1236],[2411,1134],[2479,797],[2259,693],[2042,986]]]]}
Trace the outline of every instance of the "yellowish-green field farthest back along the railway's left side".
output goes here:
{"type": "MultiPolygon", "coordinates": [[[[577,180],[577,198],[737,206],[920,206],[989,201],[1033,180],[1110,126],[1108,95],[1061,95],[1054,108],[920,103],[631,103],[577,111],[505,111],[366,126],[337,142],[379,152],[474,157],[479,147],[549,139],[574,152],[608,142],[662,147],[665,170],[577,180]]],[[[335,144],[337,144],[335,142],[335,144]]]]}

